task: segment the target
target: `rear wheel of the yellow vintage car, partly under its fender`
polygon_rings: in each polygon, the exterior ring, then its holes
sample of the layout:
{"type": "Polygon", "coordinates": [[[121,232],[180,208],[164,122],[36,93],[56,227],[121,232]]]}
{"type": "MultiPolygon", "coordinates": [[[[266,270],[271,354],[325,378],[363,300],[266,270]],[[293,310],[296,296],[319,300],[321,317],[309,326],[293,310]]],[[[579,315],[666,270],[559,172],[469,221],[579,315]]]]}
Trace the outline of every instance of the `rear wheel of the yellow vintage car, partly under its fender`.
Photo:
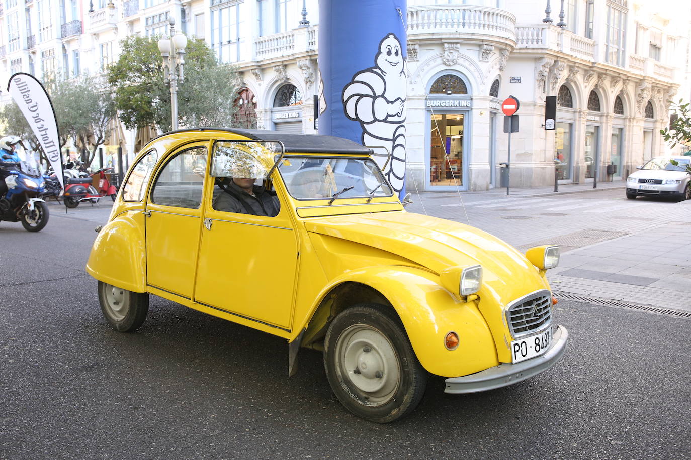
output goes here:
{"type": "Polygon", "coordinates": [[[103,281],[98,282],[98,301],[106,321],[117,332],[137,330],[149,312],[149,294],[116,288],[103,281]]]}

